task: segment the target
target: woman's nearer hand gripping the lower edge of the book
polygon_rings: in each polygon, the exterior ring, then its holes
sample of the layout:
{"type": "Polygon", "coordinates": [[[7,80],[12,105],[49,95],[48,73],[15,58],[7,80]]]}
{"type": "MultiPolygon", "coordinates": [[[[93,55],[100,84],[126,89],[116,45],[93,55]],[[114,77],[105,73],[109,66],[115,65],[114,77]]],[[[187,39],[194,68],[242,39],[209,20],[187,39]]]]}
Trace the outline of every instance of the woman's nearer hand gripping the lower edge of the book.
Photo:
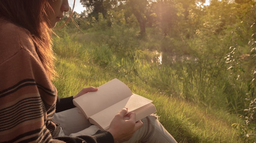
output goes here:
{"type": "Polygon", "coordinates": [[[143,123],[135,121],[135,113],[128,113],[128,108],[123,108],[110,123],[110,132],[115,142],[128,141],[133,133],[143,126],[143,123]],[[127,115],[126,115],[127,114],[127,115]]]}

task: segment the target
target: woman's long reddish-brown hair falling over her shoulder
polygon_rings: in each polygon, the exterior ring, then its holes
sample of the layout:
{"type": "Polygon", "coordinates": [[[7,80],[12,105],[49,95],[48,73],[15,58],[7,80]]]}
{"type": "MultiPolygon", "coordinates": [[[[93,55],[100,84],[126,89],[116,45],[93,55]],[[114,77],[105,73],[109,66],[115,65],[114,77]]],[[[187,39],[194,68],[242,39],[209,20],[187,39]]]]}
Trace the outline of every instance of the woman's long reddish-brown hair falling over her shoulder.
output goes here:
{"type": "Polygon", "coordinates": [[[29,30],[45,71],[54,79],[57,75],[55,56],[52,51],[52,30],[47,18],[50,12],[53,10],[48,0],[0,0],[0,17],[29,30]]]}

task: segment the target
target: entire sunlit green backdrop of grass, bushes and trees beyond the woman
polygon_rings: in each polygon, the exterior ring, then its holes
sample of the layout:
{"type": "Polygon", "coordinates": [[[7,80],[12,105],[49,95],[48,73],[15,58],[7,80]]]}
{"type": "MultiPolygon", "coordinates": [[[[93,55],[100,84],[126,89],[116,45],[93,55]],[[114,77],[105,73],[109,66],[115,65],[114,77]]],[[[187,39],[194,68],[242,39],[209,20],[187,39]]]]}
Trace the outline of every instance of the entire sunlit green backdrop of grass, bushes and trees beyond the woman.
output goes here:
{"type": "Polygon", "coordinates": [[[118,78],[178,143],[256,143],[255,0],[80,2],[54,29],[60,97],[118,78]]]}

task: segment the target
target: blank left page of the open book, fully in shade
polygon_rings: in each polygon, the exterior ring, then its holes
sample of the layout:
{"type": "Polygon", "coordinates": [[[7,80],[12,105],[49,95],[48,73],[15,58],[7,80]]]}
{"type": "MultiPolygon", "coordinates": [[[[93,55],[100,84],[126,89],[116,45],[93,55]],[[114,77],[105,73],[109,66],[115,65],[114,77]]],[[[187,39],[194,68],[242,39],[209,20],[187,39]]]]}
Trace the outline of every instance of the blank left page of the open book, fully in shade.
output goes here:
{"type": "Polygon", "coordinates": [[[126,84],[118,79],[113,79],[98,87],[98,91],[88,92],[75,98],[73,103],[85,114],[85,117],[94,115],[109,106],[124,100],[132,95],[132,91],[126,84]]]}

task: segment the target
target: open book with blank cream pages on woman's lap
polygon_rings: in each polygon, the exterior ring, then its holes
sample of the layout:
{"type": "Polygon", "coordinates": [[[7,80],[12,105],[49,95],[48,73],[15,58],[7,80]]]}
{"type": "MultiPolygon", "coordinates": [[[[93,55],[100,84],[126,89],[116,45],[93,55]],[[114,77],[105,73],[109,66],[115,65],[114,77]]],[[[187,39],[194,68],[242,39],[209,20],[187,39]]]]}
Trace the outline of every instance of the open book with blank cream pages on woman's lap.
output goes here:
{"type": "Polygon", "coordinates": [[[86,119],[108,130],[112,119],[122,108],[136,113],[136,121],[156,112],[152,100],[133,94],[126,84],[117,78],[98,87],[98,91],[88,92],[73,100],[86,119]]]}

